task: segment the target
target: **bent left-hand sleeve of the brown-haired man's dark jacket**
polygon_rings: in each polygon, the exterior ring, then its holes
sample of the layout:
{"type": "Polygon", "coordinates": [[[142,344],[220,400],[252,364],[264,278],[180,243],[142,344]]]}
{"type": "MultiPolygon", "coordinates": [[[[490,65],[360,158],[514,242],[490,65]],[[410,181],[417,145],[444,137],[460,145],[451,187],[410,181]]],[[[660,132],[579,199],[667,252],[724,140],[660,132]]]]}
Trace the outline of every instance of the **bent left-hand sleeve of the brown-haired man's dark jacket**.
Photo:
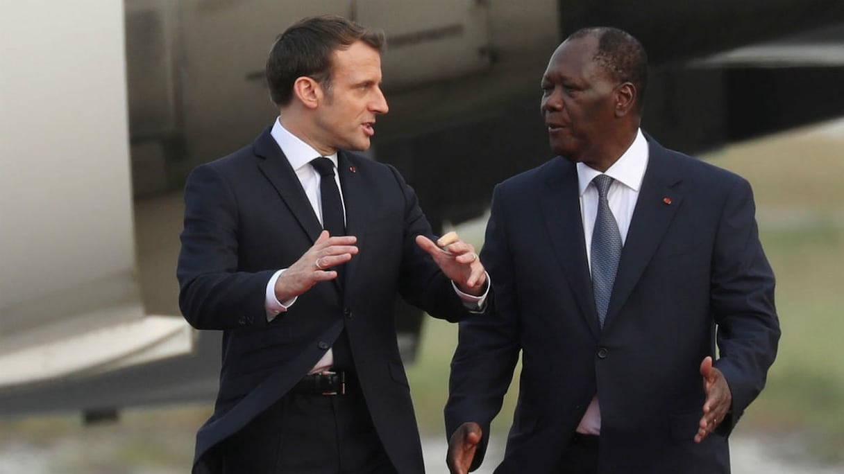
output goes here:
{"type": "Polygon", "coordinates": [[[197,329],[267,324],[265,292],[273,270],[238,271],[234,192],[212,165],[197,167],[185,187],[179,254],[179,307],[197,329]]]}

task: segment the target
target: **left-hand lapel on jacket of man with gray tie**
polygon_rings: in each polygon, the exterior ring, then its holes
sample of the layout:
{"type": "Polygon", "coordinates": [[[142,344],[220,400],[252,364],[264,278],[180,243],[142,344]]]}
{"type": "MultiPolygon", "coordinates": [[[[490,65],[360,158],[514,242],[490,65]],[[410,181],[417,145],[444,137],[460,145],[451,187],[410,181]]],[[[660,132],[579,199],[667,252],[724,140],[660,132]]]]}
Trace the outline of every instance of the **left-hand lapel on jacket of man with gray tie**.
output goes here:
{"type": "Polygon", "coordinates": [[[563,267],[563,274],[571,284],[580,313],[592,335],[597,338],[601,330],[598,327],[598,312],[592,297],[592,277],[589,275],[586,244],[583,240],[577,171],[573,164],[558,157],[549,169],[548,176],[540,205],[551,245],[563,267]]]}

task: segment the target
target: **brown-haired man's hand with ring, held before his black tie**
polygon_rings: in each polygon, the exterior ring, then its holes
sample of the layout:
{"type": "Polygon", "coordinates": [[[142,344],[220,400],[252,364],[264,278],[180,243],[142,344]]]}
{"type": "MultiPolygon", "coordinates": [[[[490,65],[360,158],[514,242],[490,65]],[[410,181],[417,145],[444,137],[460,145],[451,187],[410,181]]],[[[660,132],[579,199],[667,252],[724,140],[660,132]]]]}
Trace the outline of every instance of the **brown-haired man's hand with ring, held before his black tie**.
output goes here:
{"type": "Polygon", "coordinates": [[[358,253],[358,247],[354,245],[357,241],[354,235],[331,237],[327,230],[323,230],[314,245],[276,280],[276,299],[295,298],[318,282],[336,278],[337,272],[332,268],[344,265],[358,253]]]}

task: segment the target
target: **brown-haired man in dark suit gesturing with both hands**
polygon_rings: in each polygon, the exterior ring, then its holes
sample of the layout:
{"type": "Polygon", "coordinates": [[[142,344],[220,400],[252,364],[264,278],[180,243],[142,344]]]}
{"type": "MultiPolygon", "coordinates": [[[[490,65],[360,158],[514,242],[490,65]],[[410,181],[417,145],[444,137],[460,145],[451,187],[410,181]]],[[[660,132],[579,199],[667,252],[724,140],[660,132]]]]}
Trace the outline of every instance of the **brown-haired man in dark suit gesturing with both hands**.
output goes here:
{"type": "Polygon", "coordinates": [[[424,471],[396,297],[460,320],[489,285],[472,245],[429,239],[398,171],[347,151],[387,113],[383,42],[339,17],[291,26],[267,62],[279,120],[187,180],[181,310],[224,334],[195,472],[424,471]]]}

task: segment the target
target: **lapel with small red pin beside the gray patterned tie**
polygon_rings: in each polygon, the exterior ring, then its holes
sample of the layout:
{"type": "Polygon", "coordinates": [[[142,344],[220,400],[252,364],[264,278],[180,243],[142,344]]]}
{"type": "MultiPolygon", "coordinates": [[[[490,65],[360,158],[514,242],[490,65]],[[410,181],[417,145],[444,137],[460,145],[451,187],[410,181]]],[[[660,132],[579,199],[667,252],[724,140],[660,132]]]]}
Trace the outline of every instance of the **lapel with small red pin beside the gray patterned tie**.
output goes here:
{"type": "Polygon", "coordinates": [[[650,155],[647,170],[630,220],[625,246],[621,251],[604,326],[630,297],[630,292],[651,261],[683,202],[684,195],[678,186],[680,176],[668,150],[651,138],[648,139],[648,146],[650,155]]]}

